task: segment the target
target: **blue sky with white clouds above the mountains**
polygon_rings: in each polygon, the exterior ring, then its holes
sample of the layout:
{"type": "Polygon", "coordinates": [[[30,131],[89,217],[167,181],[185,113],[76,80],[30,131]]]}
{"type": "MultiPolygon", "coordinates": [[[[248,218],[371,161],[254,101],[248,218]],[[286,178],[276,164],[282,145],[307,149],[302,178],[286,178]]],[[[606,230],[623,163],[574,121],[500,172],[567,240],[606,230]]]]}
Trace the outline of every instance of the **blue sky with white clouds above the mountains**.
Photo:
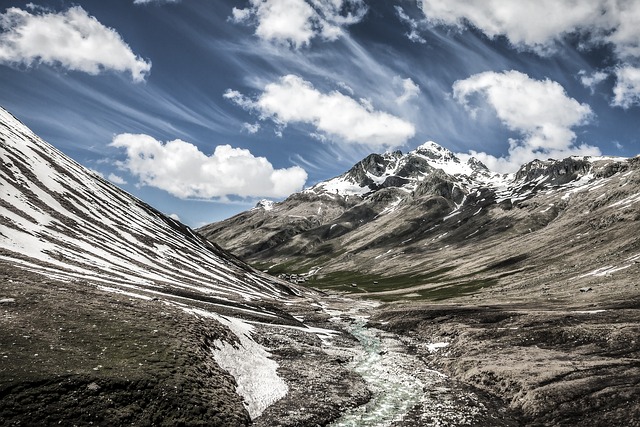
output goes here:
{"type": "Polygon", "coordinates": [[[2,0],[0,105],[193,227],[426,141],[631,157],[640,0],[2,0]]]}

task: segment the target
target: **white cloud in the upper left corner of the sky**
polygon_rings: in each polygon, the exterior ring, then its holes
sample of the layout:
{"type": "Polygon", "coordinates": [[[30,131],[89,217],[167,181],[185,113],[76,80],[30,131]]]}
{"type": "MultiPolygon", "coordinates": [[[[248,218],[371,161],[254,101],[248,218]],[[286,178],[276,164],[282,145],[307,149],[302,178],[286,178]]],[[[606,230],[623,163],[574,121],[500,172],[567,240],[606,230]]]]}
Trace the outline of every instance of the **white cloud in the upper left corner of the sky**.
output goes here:
{"type": "Polygon", "coordinates": [[[34,11],[13,7],[0,14],[0,63],[60,65],[89,74],[128,71],[135,82],[151,70],[151,63],[136,56],[115,30],[82,7],[61,13],[34,11]]]}

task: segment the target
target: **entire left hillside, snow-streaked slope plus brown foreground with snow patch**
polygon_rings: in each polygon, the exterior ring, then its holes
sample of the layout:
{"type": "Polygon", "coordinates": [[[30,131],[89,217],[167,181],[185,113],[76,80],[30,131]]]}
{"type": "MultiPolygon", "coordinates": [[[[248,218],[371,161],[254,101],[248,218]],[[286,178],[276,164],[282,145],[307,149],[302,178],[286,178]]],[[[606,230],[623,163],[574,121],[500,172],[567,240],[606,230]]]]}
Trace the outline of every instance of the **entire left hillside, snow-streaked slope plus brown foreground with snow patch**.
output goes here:
{"type": "Polygon", "coordinates": [[[323,352],[325,337],[354,340],[314,326],[329,318],[314,293],[253,270],[2,109],[0,193],[0,425],[300,425],[295,405],[313,424],[368,398],[323,352]]]}

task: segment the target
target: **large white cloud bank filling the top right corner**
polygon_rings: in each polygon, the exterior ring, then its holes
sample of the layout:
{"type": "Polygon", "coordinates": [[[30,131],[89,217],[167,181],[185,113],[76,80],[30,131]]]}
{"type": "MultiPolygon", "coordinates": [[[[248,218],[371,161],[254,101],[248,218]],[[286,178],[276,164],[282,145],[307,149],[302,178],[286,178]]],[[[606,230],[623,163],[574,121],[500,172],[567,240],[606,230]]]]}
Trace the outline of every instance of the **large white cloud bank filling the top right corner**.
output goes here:
{"type": "Polygon", "coordinates": [[[640,87],[633,78],[630,81],[633,72],[628,66],[640,63],[638,1],[421,0],[420,6],[434,25],[472,25],[490,38],[504,36],[514,46],[539,54],[554,52],[557,43],[570,34],[579,35],[585,49],[609,44],[619,62],[615,70],[618,91],[612,104],[623,108],[637,104],[633,100],[640,97],[640,87]]]}

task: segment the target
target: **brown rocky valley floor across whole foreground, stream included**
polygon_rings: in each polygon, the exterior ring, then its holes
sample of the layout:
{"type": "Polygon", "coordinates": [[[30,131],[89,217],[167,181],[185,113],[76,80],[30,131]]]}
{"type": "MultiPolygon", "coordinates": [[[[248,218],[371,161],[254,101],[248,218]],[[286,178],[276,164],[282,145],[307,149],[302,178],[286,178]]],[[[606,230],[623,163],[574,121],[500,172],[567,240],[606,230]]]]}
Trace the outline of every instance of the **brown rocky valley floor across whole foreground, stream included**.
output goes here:
{"type": "Polygon", "coordinates": [[[220,323],[0,267],[0,425],[640,426],[640,298],[274,302],[244,322],[288,391],[251,420],[220,323]]]}

